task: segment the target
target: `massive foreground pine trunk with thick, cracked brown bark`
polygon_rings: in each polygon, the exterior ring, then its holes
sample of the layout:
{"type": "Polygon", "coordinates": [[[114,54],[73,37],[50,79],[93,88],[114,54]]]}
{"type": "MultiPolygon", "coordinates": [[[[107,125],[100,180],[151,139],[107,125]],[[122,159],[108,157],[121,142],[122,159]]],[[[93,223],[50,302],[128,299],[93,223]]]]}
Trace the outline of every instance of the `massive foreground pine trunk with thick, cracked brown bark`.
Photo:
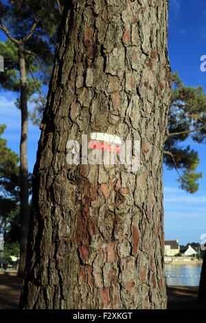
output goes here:
{"type": "Polygon", "coordinates": [[[168,1],[68,3],[34,167],[20,308],[165,309],[168,1]],[[84,153],[68,164],[68,140],[91,133],[141,140],[139,170],[89,164],[84,153]]]}

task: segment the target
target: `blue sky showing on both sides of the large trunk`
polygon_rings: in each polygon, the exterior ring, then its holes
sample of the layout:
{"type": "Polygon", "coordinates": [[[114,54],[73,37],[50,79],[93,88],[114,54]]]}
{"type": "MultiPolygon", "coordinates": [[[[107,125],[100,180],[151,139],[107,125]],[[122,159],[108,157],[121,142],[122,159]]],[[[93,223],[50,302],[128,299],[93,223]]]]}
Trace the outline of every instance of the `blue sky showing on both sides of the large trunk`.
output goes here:
{"type": "MultiPolygon", "coordinates": [[[[168,49],[172,72],[178,71],[185,85],[201,85],[206,92],[206,71],[200,69],[201,56],[206,55],[206,7],[205,0],[170,0],[168,49]]],[[[5,36],[0,32],[0,41],[5,36]]],[[[0,53],[1,54],[1,53],[0,53]]],[[[19,153],[21,115],[14,106],[16,96],[0,91],[0,124],[7,129],[3,137],[8,146],[19,153]]],[[[32,107],[29,104],[29,109],[32,107]]],[[[36,150],[40,131],[29,124],[28,164],[32,172],[36,161],[36,150]]],[[[198,151],[200,164],[197,170],[203,172],[199,190],[189,194],[179,189],[175,170],[163,167],[165,239],[179,239],[185,245],[193,241],[201,243],[201,234],[206,233],[206,166],[205,145],[189,140],[187,143],[198,151]]]]}

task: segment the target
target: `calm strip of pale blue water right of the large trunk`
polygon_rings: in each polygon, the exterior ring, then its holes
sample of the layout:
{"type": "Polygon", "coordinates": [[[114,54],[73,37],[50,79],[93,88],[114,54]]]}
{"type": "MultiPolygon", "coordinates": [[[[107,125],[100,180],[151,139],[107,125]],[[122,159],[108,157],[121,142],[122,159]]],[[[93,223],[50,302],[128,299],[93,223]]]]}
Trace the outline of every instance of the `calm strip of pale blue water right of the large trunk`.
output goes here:
{"type": "Polygon", "coordinates": [[[202,265],[165,264],[165,276],[168,285],[198,286],[202,265]],[[167,277],[169,275],[170,277],[167,277]]]}

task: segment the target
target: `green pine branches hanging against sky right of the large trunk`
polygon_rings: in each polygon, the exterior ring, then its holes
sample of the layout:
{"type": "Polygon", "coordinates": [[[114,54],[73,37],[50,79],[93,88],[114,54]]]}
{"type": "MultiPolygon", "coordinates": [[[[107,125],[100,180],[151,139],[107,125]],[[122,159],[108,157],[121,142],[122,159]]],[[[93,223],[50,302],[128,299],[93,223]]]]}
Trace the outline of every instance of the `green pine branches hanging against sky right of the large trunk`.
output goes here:
{"type": "Polygon", "coordinates": [[[177,179],[180,187],[194,193],[198,190],[198,179],[203,177],[202,172],[195,172],[199,164],[198,152],[190,146],[183,148],[180,144],[188,137],[192,137],[192,140],[198,143],[205,142],[206,127],[191,133],[187,131],[206,125],[206,94],[203,93],[202,87],[185,87],[177,72],[173,74],[172,81],[168,115],[168,132],[171,135],[165,141],[164,151],[172,153],[174,159],[165,154],[164,162],[169,169],[176,168],[181,172],[177,179]]]}

